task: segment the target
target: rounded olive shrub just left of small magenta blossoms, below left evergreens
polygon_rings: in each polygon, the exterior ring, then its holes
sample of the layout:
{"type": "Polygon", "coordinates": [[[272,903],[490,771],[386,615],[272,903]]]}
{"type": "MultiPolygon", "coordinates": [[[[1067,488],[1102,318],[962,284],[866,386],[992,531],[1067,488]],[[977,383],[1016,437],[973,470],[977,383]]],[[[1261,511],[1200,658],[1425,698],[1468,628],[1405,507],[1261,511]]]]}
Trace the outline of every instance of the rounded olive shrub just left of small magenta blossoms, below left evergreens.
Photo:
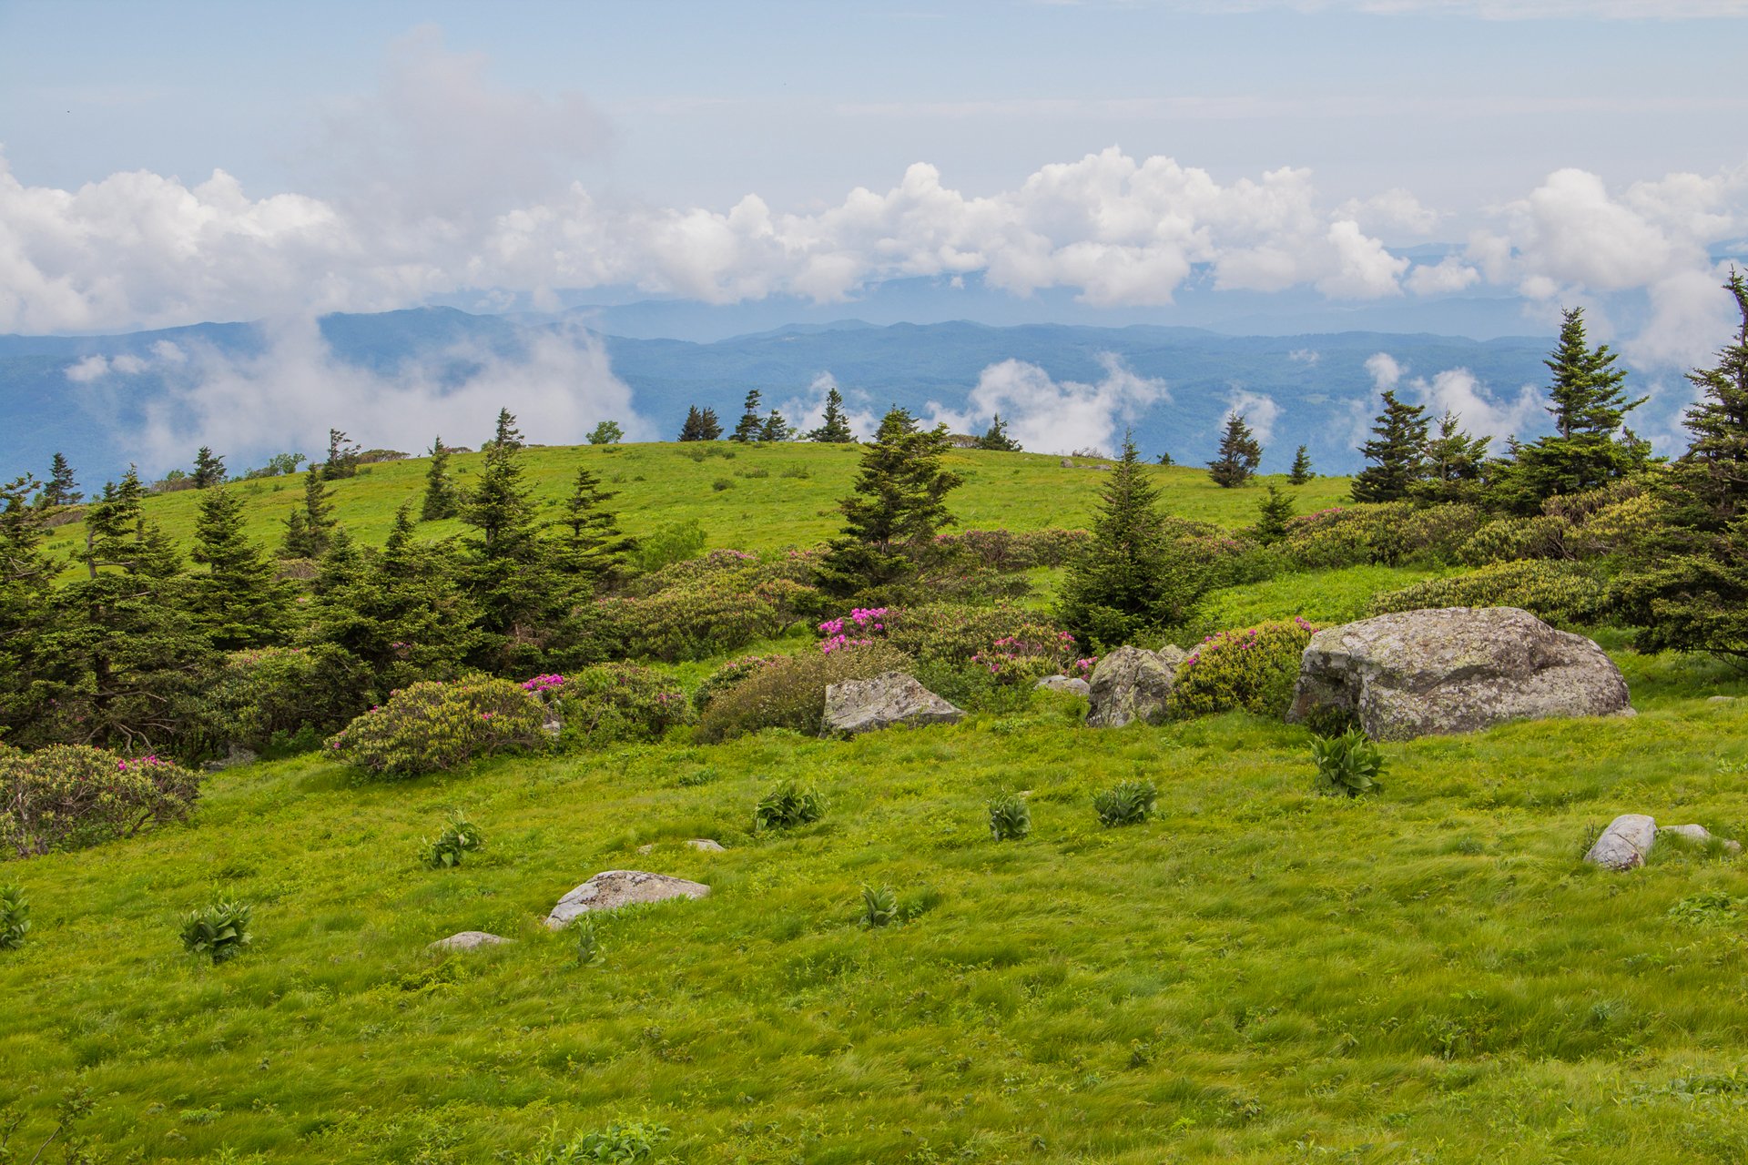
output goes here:
{"type": "Polygon", "coordinates": [[[447,772],[479,756],[545,742],[545,714],[509,679],[427,679],[395,692],[329,737],[337,760],[379,777],[447,772]]]}

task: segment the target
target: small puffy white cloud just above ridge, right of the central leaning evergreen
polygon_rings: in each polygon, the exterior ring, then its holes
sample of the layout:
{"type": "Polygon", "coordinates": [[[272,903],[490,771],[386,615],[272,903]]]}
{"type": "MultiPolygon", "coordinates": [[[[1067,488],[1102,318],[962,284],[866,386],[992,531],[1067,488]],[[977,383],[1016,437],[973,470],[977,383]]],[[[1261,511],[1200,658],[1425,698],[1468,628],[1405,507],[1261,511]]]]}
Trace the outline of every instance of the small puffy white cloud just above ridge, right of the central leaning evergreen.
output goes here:
{"type": "Polygon", "coordinates": [[[1009,435],[1035,452],[1110,451],[1119,423],[1169,402],[1171,393],[1164,381],[1136,376],[1112,353],[1101,353],[1098,362],[1105,376],[1096,384],[1056,381],[1024,360],[993,363],[977,377],[963,410],[930,402],[930,424],[982,431],[1000,412],[1009,435]]]}

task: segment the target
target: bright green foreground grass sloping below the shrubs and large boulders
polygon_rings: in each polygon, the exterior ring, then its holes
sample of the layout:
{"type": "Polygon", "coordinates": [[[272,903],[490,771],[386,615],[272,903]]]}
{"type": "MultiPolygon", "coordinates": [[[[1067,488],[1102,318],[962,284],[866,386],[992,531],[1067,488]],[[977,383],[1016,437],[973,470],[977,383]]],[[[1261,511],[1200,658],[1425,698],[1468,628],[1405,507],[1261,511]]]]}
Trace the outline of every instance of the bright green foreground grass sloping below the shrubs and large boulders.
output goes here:
{"type": "Polygon", "coordinates": [[[143,1160],[500,1160],[558,1118],[666,1125],[680,1162],[1738,1162],[1748,966],[1711,915],[1741,866],[1578,854],[1626,810],[1741,837],[1748,700],[1703,697],[1748,685],[1610,646],[1640,716],[1386,746],[1353,802],[1299,728],[1087,730],[1054,693],[404,784],[231,770],[191,826],[5,866],[37,927],[0,955],[0,1079],[40,1134],[89,1086],[143,1160]],[[1124,779],[1157,814],[1105,830],[1124,779]],[[785,781],[829,814],[753,831],[785,781]],[[1033,831],[998,844],[1005,789],[1033,831]],[[489,847],[423,868],[456,809],[489,847]],[[612,868],[713,894],[605,917],[577,968],[540,919],[612,868]],[[905,920],[864,926],[862,886],[905,920]],[[218,968],[177,940],[215,896],[255,903],[218,968]],[[461,929],[517,941],[427,954],[461,929]]]}

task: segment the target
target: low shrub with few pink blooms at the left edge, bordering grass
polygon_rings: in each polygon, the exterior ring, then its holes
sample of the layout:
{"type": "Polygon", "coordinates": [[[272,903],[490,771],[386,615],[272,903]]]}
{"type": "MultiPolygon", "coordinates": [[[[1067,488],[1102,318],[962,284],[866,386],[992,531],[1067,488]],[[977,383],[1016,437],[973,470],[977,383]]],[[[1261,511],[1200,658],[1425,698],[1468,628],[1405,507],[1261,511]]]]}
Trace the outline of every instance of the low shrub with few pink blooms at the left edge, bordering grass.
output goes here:
{"type": "Polygon", "coordinates": [[[157,756],[124,758],[84,744],[35,753],[0,746],[0,847],[30,858],[185,821],[199,782],[157,756]]]}

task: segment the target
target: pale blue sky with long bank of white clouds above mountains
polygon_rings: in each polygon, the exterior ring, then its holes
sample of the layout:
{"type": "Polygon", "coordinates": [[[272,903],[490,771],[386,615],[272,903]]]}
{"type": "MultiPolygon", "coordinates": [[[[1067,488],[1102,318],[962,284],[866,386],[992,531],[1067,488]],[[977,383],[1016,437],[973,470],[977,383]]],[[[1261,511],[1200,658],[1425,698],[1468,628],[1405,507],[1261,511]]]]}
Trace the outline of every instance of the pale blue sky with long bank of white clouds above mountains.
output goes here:
{"type": "Polygon", "coordinates": [[[0,0],[0,332],[974,279],[1729,328],[1748,0],[0,0]]]}

